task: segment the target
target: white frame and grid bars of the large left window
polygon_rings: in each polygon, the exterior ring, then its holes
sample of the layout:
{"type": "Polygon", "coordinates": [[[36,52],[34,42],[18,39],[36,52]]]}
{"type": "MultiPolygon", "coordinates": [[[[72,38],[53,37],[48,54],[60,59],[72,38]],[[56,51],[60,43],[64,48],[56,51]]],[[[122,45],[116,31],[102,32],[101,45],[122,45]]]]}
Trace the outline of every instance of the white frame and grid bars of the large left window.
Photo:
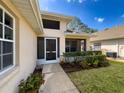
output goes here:
{"type": "Polygon", "coordinates": [[[2,27],[3,27],[3,29],[2,29],[3,36],[2,36],[2,38],[0,38],[0,41],[1,42],[3,42],[3,41],[11,42],[13,44],[13,64],[12,64],[12,66],[8,66],[8,67],[5,67],[4,69],[1,69],[0,75],[2,75],[16,66],[16,62],[15,62],[16,61],[16,56],[15,56],[16,47],[15,47],[15,17],[7,9],[5,9],[2,5],[0,5],[0,8],[3,11],[3,20],[2,20],[2,22],[0,22],[0,24],[2,24],[2,27]],[[5,13],[8,14],[13,19],[13,28],[9,27],[5,24],[5,13]],[[12,40],[5,39],[5,27],[7,27],[13,31],[13,39],[12,40]]]}

